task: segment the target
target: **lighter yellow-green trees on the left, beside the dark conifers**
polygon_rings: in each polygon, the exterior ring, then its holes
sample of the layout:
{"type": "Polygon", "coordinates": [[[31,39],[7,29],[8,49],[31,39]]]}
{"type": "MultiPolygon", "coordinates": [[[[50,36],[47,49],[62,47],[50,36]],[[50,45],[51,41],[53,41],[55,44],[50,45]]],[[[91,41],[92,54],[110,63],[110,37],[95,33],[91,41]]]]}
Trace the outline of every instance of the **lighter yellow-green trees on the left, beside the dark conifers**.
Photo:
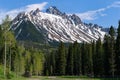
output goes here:
{"type": "Polygon", "coordinates": [[[41,75],[44,56],[39,50],[26,50],[23,45],[19,46],[9,29],[10,23],[7,16],[0,26],[0,64],[5,64],[3,69],[6,74],[4,76],[11,78],[12,72],[16,76],[41,75]]]}

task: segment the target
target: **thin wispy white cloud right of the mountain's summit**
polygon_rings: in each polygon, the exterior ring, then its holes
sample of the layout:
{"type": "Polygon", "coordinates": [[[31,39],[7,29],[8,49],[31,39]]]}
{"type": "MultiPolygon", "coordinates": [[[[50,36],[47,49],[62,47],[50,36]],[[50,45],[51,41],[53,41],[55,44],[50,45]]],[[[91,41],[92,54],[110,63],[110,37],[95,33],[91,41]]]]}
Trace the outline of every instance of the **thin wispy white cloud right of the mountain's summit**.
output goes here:
{"type": "Polygon", "coordinates": [[[76,13],[76,15],[78,15],[82,20],[95,20],[99,16],[106,16],[107,14],[103,12],[111,8],[120,8],[120,1],[114,2],[113,4],[105,8],[100,8],[98,10],[91,10],[83,13],[76,13]]]}

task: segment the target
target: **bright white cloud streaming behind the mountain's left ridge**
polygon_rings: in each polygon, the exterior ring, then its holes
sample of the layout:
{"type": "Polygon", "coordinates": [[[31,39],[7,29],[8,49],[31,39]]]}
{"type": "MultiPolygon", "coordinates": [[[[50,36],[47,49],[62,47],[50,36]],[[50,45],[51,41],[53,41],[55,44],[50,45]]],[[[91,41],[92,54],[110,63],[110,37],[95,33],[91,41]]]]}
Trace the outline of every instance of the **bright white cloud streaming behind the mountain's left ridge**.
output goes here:
{"type": "Polygon", "coordinates": [[[13,19],[19,12],[23,12],[23,11],[29,12],[37,8],[39,8],[40,10],[44,10],[47,4],[48,4],[47,2],[43,2],[43,3],[38,3],[38,4],[30,4],[25,7],[21,7],[19,9],[14,9],[10,11],[0,10],[0,23],[5,18],[6,15],[9,15],[11,19],[13,19]]]}

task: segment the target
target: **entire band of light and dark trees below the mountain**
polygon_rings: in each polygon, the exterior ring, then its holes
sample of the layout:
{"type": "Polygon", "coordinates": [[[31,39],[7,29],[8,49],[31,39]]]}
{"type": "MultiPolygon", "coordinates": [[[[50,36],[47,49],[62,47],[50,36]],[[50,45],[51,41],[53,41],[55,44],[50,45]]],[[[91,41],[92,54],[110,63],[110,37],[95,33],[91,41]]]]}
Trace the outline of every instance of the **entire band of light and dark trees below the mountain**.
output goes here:
{"type": "Polygon", "coordinates": [[[91,43],[59,43],[57,49],[25,48],[18,45],[14,34],[9,30],[10,19],[7,16],[0,25],[0,65],[4,66],[4,76],[11,72],[17,76],[120,76],[120,21],[117,36],[114,27],[103,41],[99,38],[91,43]]]}

